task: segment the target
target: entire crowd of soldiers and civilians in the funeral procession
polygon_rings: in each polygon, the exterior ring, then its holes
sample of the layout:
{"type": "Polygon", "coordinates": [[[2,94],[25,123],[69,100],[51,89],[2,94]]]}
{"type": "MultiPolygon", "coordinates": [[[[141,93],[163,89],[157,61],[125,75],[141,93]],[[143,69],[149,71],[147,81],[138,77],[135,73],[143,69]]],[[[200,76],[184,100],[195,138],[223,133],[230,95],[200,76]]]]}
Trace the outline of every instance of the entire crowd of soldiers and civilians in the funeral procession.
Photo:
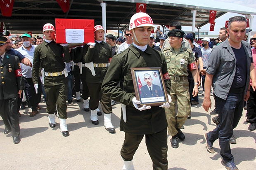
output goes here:
{"type": "Polygon", "coordinates": [[[134,169],[133,155],[144,135],[153,169],[167,170],[167,134],[172,136],[173,148],[185,140],[181,129],[191,119],[191,106],[199,104],[202,85],[204,109],[208,112],[211,108],[213,95],[215,109],[210,114],[218,114],[213,117],[217,127],[204,135],[207,151],[214,153],[213,142],[219,139],[221,163],[228,170],[237,170],[230,143],[236,143],[233,129],[242,116],[244,101],[248,129],[256,129],[256,35],[251,45],[244,41],[246,22],[242,16],[231,17],[228,28],[220,28],[218,39],[199,40],[195,33],[185,34],[180,23],[173,22],[167,35],[158,27],[155,40],[151,17],[140,12],[130,19],[124,38],[104,37],[104,28],[96,25],[95,41],[76,47],[56,44],[55,27],[50,23],[43,26],[44,38],[27,33],[16,35],[14,40],[0,36],[0,114],[4,134],[12,133],[14,144],[21,141],[19,109],[27,104],[32,109],[30,116],[36,116],[42,93],[49,126],[56,126],[57,114],[64,137],[69,136],[66,102],[74,104],[73,94],[76,102],[83,101],[83,110],[90,112],[92,124],[99,124],[98,116],[103,112],[104,127],[109,133],[115,133],[112,106],[120,103],[120,130],[125,132],[123,170],[134,169]],[[139,93],[141,98],[164,96],[165,102],[151,106],[136,98],[130,68],[160,68],[167,95],[152,83],[154,77],[150,74],[143,76],[145,85],[139,93]],[[11,85],[14,86],[10,88],[11,85]]]}

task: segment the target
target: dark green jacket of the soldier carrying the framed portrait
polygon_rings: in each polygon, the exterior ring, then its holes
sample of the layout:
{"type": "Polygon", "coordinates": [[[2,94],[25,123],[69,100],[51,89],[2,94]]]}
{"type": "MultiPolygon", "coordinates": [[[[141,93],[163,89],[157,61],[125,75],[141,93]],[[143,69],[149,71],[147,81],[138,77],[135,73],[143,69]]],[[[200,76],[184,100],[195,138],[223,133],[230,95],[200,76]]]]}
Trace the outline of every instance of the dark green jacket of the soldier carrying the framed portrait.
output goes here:
{"type": "MultiPolygon", "coordinates": [[[[130,68],[160,67],[166,74],[167,66],[164,55],[151,47],[145,51],[133,44],[128,49],[114,56],[102,84],[102,92],[109,98],[126,105],[127,122],[121,115],[120,130],[130,134],[157,133],[168,126],[164,108],[159,106],[139,111],[133,106],[135,90],[130,68]],[[120,87],[117,86],[120,82],[120,87]]],[[[164,80],[167,93],[170,93],[171,81],[164,80]]]]}

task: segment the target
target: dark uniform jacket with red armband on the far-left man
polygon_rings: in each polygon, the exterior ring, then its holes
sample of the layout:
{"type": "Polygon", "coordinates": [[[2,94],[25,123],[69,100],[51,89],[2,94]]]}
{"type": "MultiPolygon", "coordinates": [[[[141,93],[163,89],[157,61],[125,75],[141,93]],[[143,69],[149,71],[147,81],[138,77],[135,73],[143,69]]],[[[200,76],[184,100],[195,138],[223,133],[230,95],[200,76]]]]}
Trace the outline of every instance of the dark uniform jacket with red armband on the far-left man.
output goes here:
{"type": "Polygon", "coordinates": [[[17,98],[24,89],[19,58],[5,53],[0,65],[0,100],[17,98]]]}

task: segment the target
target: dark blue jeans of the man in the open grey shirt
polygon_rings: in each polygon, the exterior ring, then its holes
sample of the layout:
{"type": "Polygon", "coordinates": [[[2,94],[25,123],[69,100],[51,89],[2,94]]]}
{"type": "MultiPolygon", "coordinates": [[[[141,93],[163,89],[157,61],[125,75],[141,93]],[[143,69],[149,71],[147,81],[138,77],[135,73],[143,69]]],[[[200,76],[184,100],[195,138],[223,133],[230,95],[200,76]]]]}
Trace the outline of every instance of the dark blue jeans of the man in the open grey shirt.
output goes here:
{"type": "Polygon", "coordinates": [[[220,155],[225,162],[234,161],[230,149],[230,137],[233,135],[233,129],[242,116],[244,107],[244,93],[228,93],[226,100],[214,95],[216,109],[218,109],[220,125],[209,132],[207,137],[211,143],[219,139],[220,155]]]}

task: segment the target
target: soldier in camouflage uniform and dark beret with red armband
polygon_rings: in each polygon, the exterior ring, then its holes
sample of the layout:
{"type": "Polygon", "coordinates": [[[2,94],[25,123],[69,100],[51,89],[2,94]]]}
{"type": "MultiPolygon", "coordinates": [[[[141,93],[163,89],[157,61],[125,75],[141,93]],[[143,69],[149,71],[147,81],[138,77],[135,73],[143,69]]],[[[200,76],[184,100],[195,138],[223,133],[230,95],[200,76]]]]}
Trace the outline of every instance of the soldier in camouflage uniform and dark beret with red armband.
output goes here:
{"type": "MultiPolygon", "coordinates": [[[[191,49],[182,46],[183,35],[182,30],[173,29],[169,31],[168,37],[171,47],[164,49],[163,53],[166,57],[168,73],[171,78],[171,107],[166,109],[166,117],[168,121],[168,133],[173,136],[171,146],[178,148],[178,139],[185,140],[185,135],[180,128],[187,120],[188,113],[191,110],[190,93],[188,86],[187,68],[192,72],[194,82],[197,82],[197,68],[194,63],[195,58],[191,49]],[[178,113],[175,114],[175,103],[177,101],[178,113]]],[[[198,83],[195,83],[193,89],[193,97],[198,93],[198,83]]]]}

